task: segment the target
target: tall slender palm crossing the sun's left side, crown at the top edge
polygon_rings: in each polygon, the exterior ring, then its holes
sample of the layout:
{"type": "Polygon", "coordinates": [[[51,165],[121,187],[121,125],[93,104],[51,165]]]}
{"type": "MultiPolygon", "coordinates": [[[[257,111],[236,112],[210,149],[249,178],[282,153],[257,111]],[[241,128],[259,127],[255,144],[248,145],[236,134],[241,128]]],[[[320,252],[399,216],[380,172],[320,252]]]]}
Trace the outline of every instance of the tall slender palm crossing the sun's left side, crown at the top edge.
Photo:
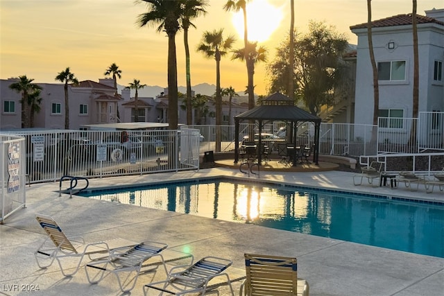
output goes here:
{"type": "MultiPolygon", "coordinates": [[[[226,11],[238,12],[242,10],[244,14],[244,48],[248,48],[248,25],[247,25],[247,2],[248,0],[228,0],[223,6],[226,11]]],[[[248,76],[248,109],[253,109],[255,107],[255,89],[254,89],[254,73],[255,73],[255,63],[250,60],[250,57],[245,52],[244,60],[247,66],[247,76],[248,76]]]]}

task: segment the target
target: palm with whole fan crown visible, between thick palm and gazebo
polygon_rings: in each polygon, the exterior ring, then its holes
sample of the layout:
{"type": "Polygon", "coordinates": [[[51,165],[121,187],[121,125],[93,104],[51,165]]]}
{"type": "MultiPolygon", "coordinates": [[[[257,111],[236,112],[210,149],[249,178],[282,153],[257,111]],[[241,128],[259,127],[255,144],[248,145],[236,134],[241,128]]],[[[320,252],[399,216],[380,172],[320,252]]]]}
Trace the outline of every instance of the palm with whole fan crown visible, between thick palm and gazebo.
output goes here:
{"type": "MultiPolygon", "coordinates": [[[[223,38],[223,29],[212,32],[205,31],[203,40],[198,45],[198,51],[201,51],[207,58],[216,60],[216,125],[222,123],[222,96],[221,96],[221,57],[227,54],[231,49],[235,39],[232,36],[223,38]]],[[[221,150],[221,138],[218,137],[219,128],[216,130],[216,152],[221,150]]]]}

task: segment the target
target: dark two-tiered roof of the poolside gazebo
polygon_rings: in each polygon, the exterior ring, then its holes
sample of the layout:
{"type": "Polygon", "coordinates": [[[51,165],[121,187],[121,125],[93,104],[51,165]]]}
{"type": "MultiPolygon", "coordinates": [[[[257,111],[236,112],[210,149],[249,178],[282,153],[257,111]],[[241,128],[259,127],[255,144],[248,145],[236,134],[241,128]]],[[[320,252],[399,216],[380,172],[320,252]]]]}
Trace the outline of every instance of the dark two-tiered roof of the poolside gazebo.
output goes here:
{"type": "Polygon", "coordinates": [[[291,98],[278,92],[264,98],[262,105],[234,116],[234,118],[240,120],[312,121],[321,123],[320,117],[296,107],[291,98]]]}

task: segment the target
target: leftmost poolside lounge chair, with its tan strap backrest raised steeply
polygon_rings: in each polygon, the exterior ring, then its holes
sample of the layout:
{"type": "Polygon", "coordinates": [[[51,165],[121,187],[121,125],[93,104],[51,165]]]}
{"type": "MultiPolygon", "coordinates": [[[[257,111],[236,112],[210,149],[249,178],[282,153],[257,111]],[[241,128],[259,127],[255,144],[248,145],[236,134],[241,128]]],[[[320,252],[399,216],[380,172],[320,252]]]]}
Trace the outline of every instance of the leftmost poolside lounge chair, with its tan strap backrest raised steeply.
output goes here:
{"type": "Polygon", "coordinates": [[[123,238],[113,238],[108,241],[96,243],[85,243],[81,236],[65,236],[65,233],[62,232],[60,226],[51,216],[38,214],[35,218],[48,235],[40,247],[34,252],[37,265],[39,268],[48,268],[52,265],[54,259],[56,259],[60,271],[65,277],[76,274],[85,255],[87,255],[89,259],[93,259],[93,256],[103,257],[115,248],[126,247],[128,249],[137,245],[137,243],[123,238]],[[68,259],[74,258],[78,263],[73,272],[67,273],[65,270],[72,267],[72,264],[71,267],[69,267],[68,259]],[[45,264],[43,261],[47,263],[45,264]]]}

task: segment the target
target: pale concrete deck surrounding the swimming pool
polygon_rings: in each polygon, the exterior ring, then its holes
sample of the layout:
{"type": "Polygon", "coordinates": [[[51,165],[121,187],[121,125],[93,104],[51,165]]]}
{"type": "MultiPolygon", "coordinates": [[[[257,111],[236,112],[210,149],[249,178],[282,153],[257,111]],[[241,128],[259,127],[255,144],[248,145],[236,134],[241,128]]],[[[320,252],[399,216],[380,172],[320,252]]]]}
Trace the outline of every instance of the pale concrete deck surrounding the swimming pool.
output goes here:
{"type": "MultiPolygon", "coordinates": [[[[340,171],[261,172],[260,179],[277,184],[284,182],[444,200],[444,194],[436,188],[434,193],[425,193],[424,188],[409,191],[403,184],[398,189],[368,184],[354,186],[353,175],[355,173],[340,171]]],[[[89,188],[214,176],[248,179],[239,170],[211,168],[91,179],[89,188]]],[[[249,179],[256,180],[257,177],[252,175],[249,179]]],[[[172,250],[189,250],[196,259],[210,255],[232,259],[233,265],[238,268],[244,268],[244,252],[296,256],[298,276],[309,281],[310,295],[314,296],[443,295],[444,258],[116,202],[76,196],[69,198],[66,194],[59,197],[58,185],[58,182],[53,182],[27,187],[26,208],[12,214],[6,218],[4,225],[0,225],[0,295],[121,295],[112,276],[91,285],[84,268],[80,268],[74,277],[63,277],[56,263],[47,269],[38,268],[33,252],[46,236],[35,220],[36,214],[53,216],[66,234],[83,236],[87,242],[113,237],[160,241],[168,243],[172,250]],[[26,291],[26,288],[36,286],[39,290],[26,291]]],[[[66,188],[65,184],[63,188],[66,188]]],[[[442,236],[443,233],[436,235],[442,236]]],[[[86,262],[85,259],[83,263],[86,262]]],[[[143,295],[144,284],[162,278],[164,275],[160,271],[141,275],[130,295],[143,295]]],[[[239,284],[234,284],[235,292],[238,292],[239,284]]],[[[219,290],[221,295],[228,295],[226,288],[219,290]]]]}

